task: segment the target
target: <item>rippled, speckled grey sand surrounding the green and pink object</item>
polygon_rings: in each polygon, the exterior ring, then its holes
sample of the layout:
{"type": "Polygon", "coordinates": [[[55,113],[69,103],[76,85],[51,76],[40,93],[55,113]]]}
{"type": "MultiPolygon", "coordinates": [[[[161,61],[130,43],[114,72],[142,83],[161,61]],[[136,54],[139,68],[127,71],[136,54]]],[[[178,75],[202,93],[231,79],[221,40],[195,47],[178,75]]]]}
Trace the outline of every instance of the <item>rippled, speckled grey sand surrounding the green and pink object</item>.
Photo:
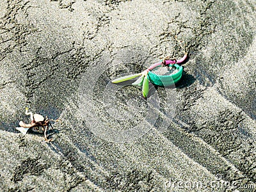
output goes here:
{"type": "Polygon", "coordinates": [[[255,4],[3,0],[0,191],[256,190],[255,4]],[[94,134],[93,120],[116,134],[140,124],[147,115],[140,88],[127,86],[110,100],[121,117],[108,113],[104,88],[163,56],[182,57],[175,35],[186,42],[189,58],[174,89],[175,116],[162,114],[168,129],[145,122],[143,136],[128,143],[94,134]],[[101,74],[91,73],[99,79],[89,84],[92,97],[84,94],[87,110],[80,113],[79,84],[98,65],[101,74]],[[27,106],[61,118],[54,141],[16,131],[20,120],[29,121],[27,106]],[[220,181],[230,187],[216,186],[220,181]]]}

